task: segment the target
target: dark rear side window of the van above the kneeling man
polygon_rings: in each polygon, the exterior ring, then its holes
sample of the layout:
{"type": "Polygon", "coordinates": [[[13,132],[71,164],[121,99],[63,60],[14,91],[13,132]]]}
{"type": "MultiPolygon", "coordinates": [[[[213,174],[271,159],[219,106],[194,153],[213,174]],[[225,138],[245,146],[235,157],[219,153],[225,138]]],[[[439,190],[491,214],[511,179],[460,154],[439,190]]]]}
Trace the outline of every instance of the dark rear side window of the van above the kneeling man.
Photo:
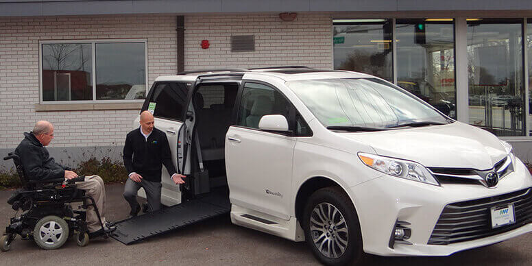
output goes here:
{"type": "Polygon", "coordinates": [[[183,106],[189,88],[187,84],[177,82],[160,82],[154,87],[150,103],[155,103],[154,117],[182,120],[183,106]]]}

